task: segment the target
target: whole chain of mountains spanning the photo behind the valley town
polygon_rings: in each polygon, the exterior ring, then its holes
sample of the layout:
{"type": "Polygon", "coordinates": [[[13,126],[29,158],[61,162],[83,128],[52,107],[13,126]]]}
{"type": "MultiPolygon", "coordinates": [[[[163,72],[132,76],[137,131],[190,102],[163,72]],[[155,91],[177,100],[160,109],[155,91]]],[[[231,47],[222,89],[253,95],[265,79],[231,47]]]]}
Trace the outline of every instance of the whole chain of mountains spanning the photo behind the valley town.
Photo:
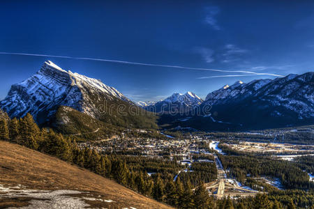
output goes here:
{"type": "MultiPolygon", "coordinates": [[[[14,84],[0,108],[13,117],[28,112],[38,124],[67,124],[84,118],[119,127],[190,127],[240,130],[314,124],[314,72],[236,82],[205,100],[188,91],[158,102],[132,102],[98,79],[66,71],[51,61],[24,82],[14,84]],[[121,107],[123,108],[121,109],[121,107]],[[140,114],[130,113],[130,109],[140,114]],[[144,109],[144,110],[143,110],[144,109]]],[[[80,127],[74,125],[73,127],[80,127]]]]}

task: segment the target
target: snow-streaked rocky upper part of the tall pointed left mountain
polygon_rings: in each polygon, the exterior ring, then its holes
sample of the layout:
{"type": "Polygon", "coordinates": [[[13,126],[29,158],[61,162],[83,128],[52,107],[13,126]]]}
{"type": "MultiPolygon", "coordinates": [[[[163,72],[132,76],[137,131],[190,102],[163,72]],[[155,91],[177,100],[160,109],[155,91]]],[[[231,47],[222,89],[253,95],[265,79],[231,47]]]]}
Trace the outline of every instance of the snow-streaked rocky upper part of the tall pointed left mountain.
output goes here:
{"type": "Polygon", "coordinates": [[[98,106],[105,100],[131,103],[117,89],[98,79],[63,70],[52,61],[45,61],[35,75],[11,86],[0,107],[10,117],[22,117],[29,112],[39,123],[43,123],[45,121],[41,121],[40,117],[46,120],[60,105],[96,117],[101,111],[98,106]]]}

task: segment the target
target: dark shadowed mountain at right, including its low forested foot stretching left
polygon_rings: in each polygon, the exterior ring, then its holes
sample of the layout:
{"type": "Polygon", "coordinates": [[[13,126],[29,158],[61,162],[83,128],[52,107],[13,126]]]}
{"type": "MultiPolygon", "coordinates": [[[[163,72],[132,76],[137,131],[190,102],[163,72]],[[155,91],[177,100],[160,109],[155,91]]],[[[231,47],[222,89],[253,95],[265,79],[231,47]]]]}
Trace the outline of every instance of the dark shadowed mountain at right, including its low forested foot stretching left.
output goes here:
{"type": "MultiPolygon", "coordinates": [[[[198,130],[242,130],[314,124],[314,72],[236,82],[209,93],[184,116],[162,114],[160,124],[198,130]],[[195,114],[196,113],[196,114],[195,114]]],[[[157,103],[156,103],[157,104],[157,103]]],[[[155,105],[156,105],[155,104],[155,105]]],[[[169,104],[168,104],[169,105],[169,104]]]]}

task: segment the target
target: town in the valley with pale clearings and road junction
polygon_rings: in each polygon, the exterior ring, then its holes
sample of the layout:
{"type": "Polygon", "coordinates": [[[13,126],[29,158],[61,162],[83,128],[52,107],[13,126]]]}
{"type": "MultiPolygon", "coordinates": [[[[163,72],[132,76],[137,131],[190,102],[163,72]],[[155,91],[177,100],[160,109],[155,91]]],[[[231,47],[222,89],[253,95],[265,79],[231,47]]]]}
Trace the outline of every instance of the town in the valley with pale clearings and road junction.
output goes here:
{"type": "MultiPolygon", "coordinates": [[[[132,130],[133,132],[147,133],[147,130],[132,130]]],[[[125,132],[131,132],[126,130],[125,132]]],[[[301,128],[299,130],[269,130],[263,132],[239,132],[239,133],[204,133],[193,132],[188,134],[176,134],[171,132],[158,132],[163,139],[154,137],[127,137],[122,133],[121,136],[114,136],[111,139],[101,139],[89,142],[80,142],[80,148],[91,148],[99,153],[155,157],[163,160],[172,160],[182,166],[174,176],[174,180],[182,173],[195,172],[191,169],[192,164],[214,164],[216,167],[216,178],[205,182],[205,187],[209,195],[218,199],[227,196],[239,198],[244,196],[255,196],[256,194],[267,191],[263,185],[268,185],[274,189],[284,189],[281,180],[274,176],[260,175],[251,176],[246,173],[246,178],[256,184],[251,187],[246,185],[246,180],[240,182],[230,169],[223,166],[220,158],[225,156],[224,150],[230,152],[247,153],[269,157],[272,160],[283,160],[293,162],[295,158],[302,156],[313,156],[314,145],[309,143],[294,144],[293,139],[282,141],[285,135],[293,134],[314,134],[313,127],[301,128]],[[280,138],[279,138],[280,137],[280,138]],[[265,141],[267,139],[272,139],[265,141]],[[243,183],[244,182],[244,183],[243,183]]],[[[292,137],[293,138],[293,137],[292,137]]],[[[228,153],[230,155],[230,153],[228,153]]],[[[306,172],[306,171],[304,171],[306,172]]],[[[156,172],[147,172],[151,176],[156,172]]],[[[308,180],[314,182],[314,176],[308,173],[308,180]]],[[[269,189],[268,189],[269,190],[269,189]]]]}

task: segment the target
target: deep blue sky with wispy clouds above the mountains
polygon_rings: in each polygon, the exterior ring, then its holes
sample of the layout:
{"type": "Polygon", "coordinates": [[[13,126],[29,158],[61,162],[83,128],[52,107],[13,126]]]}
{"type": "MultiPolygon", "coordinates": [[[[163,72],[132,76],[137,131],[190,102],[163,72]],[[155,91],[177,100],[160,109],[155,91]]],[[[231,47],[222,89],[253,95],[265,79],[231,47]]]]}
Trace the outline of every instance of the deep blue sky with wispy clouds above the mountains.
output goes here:
{"type": "Polygon", "coordinates": [[[0,100],[47,59],[144,101],[314,67],[313,1],[1,1],[0,26],[0,52],[255,72],[0,54],[0,100]]]}

